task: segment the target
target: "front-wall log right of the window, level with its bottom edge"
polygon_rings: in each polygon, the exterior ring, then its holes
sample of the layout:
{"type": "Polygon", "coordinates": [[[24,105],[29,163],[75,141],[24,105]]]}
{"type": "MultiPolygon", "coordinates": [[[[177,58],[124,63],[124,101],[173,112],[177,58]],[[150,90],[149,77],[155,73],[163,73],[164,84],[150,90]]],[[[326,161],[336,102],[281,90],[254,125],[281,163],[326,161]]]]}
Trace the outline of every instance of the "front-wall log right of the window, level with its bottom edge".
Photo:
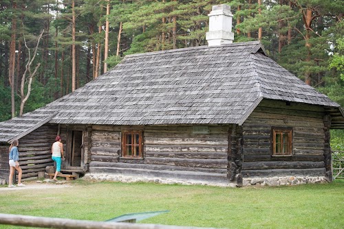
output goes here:
{"type": "Polygon", "coordinates": [[[226,152],[145,152],[145,156],[154,158],[200,158],[226,159],[226,152]]]}

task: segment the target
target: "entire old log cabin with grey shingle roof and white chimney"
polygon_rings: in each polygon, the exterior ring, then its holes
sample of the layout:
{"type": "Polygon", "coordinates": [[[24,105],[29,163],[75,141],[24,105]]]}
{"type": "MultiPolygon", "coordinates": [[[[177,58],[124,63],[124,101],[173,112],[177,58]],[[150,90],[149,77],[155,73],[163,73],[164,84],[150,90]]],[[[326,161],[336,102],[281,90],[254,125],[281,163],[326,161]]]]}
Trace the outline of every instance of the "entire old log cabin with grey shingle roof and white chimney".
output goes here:
{"type": "Polygon", "coordinates": [[[87,178],[246,186],[332,181],[330,128],[343,109],[268,58],[233,43],[228,5],[215,5],[208,46],[125,58],[43,108],[0,123],[0,176],[19,139],[23,178],[52,165],[87,178]]]}

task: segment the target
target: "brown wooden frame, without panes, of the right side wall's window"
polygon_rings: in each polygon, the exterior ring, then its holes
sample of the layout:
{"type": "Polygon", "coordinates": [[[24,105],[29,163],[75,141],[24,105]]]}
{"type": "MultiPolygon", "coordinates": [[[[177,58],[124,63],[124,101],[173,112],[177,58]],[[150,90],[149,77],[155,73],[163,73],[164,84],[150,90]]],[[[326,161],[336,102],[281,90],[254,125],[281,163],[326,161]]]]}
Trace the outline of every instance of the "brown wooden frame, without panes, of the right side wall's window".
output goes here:
{"type": "Polygon", "coordinates": [[[279,127],[272,127],[271,128],[271,154],[272,156],[292,156],[292,128],[279,128],[279,127]],[[283,145],[286,145],[286,153],[277,153],[277,143],[276,143],[276,135],[277,134],[288,134],[287,143],[283,142],[283,138],[281,138],[280,145],[280,152],[283,152],[283,145]]]}

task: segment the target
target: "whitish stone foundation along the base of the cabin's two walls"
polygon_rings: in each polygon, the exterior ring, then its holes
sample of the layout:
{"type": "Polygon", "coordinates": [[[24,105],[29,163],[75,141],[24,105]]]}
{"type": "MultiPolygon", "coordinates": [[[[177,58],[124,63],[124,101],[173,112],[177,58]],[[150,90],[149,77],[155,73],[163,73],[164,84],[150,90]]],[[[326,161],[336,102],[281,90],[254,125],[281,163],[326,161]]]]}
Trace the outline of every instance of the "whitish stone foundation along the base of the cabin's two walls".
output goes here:
{"type": "MultiPolygon", "coordinates": [[[[140,176],[125,176],[106,173],[86,173],[84,180],[112,181],[112,182],[151,182],[155,184],[186,184],[236,187],[235,183],[202,182],[200,180],[174,180],[164,178],[144,178],[140,176]]],[[[246,178],[243,186],[281,186],[296,184],[314,184],[327,182],[325,176],[320,177],[272,177],[272,178],[246,178]]]]}

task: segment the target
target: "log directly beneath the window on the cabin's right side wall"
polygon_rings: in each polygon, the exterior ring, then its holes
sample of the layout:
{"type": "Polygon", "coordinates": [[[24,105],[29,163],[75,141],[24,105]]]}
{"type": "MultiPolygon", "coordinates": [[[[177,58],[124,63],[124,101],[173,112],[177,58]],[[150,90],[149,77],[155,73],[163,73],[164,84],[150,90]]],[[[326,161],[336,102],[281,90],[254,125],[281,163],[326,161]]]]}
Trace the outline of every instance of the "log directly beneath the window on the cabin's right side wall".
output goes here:
{"type": "Polygon", "coordinates": [[[323,155],[293,155],[288,157],[272,157],[269,155],[248,155],[244,154],[244,162],[257,162],[257,161],[323,161],[325,157],[323,155]]]}

